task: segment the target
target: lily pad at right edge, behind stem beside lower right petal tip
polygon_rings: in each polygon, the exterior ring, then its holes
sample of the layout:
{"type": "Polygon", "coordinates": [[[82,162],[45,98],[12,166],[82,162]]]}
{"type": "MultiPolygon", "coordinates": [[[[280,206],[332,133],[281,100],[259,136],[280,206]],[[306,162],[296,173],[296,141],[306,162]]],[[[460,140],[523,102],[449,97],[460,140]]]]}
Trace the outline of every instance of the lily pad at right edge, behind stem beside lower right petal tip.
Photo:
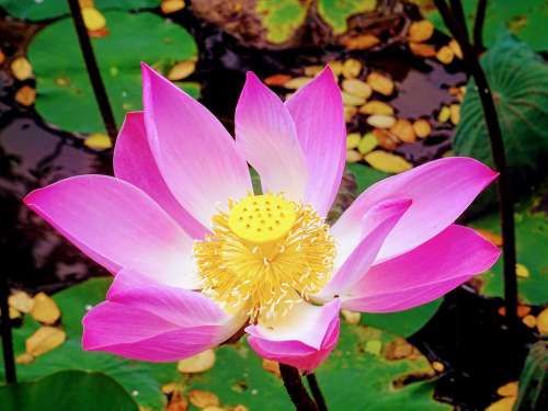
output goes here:
{"type": "MultiPolygon", "coordinates": [[[[500,235],[498,214],[491,214],[470,222],[473,228],[480,228],[500,235]]],[[[548,295],[548,215],[534,212],[528,204],[516,207],[515,213],[517,263],[524,265],[528,276],[517,277],[520,300],[524,304],[546,305],[548,295]]],[[[479,292],[488,297],[504,295],[502,259],[479,281],[479,292]]]]}

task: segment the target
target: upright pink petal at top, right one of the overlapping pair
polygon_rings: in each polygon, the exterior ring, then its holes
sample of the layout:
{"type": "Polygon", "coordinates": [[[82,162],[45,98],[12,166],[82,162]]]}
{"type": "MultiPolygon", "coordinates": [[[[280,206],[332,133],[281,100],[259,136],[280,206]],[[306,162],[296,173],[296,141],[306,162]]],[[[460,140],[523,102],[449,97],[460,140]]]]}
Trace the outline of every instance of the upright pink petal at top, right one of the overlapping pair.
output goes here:
{"type": "Polygon", "coordinates": [[[306,157],[306,202],[327,215],[341,184],[346,158],[342,96],[329,67],[286,103],[306,157]]]}

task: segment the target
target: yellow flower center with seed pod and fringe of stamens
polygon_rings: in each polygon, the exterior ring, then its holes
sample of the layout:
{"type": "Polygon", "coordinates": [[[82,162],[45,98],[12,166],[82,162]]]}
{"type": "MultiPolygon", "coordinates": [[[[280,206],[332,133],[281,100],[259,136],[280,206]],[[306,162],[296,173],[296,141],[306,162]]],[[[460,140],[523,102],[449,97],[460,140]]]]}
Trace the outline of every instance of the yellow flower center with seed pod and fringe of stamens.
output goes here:
{"type": "Polygon", "coordinates": [[[213,235],[194,243],[194,258],[203,293],[230,312],[272,320],[321,290],[334,242],[310,207],[250,194],[213,217],[213,235]]]}

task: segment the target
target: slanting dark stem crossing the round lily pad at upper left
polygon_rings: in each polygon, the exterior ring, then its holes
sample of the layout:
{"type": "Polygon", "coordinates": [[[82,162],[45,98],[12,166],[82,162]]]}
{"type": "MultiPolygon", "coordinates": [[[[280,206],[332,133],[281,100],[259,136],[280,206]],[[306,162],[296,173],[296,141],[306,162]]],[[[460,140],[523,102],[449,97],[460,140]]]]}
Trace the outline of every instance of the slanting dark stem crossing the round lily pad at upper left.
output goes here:
{"type": "Polygon", "coordinates": [[[78,41],[80,43],[80,49],[82,50],[83,60],[85,61],[85,68],[88,69],[88,76],[90,77],[93,93],[95,94],[95,100],[98,101],[99,110],[101,112],[101,117],[103,117],[106,133],[111,137],[112,141],[114,141],[118,130],[116,128],[116,122],[114,119],[111,103],[109,102],[109,96],[106,95],[106,89],[104,87],[103,79],[101,78],[101,72],[99,71],[90,36],[88,35],[88,28],[85,28],[85,24],[83,23],[80,4],[78,3],[78,0],[68,0],[68,3],[70,13],[72,14],[72,21],[75,22],[75,28],[78,34],[78,41]]]}

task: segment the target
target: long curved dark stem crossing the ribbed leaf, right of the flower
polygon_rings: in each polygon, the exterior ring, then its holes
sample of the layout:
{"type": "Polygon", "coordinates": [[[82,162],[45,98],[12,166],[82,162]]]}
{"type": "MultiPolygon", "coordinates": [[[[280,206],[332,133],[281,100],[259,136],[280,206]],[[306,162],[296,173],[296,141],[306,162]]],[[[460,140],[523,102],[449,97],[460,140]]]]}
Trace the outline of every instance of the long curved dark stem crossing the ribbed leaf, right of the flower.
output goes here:
{"type": "MultiPolygon", "coordinates": [[[[458,0],[452,0],[458,1],[458,0]]],[[[515,253],[515,228],[514,228],[514,201],[510,184],[510,175],[504,151],[502,132],[496,115],[493,95],[480,65],[478,55],[473,46],[464,34],[465,27],[459,26],[457,19],[452,14],[445,0],[434,0],[445,24],[453,36],[459,43],[465,64],[469,75],[473,78],[478,94],[480,96],[483,116],[488,128],[489,140],[491,144],[491,155],[494,167],[499,172],[496,189],[499,194],[499,207],[501,215],[501,231],[503,239],[503,265],[504,265],[504,302],[506,309],[506,320],[510,328],[515,329],[517,324],[517,278],[515,274],[516,253],[515,253]]]]}

